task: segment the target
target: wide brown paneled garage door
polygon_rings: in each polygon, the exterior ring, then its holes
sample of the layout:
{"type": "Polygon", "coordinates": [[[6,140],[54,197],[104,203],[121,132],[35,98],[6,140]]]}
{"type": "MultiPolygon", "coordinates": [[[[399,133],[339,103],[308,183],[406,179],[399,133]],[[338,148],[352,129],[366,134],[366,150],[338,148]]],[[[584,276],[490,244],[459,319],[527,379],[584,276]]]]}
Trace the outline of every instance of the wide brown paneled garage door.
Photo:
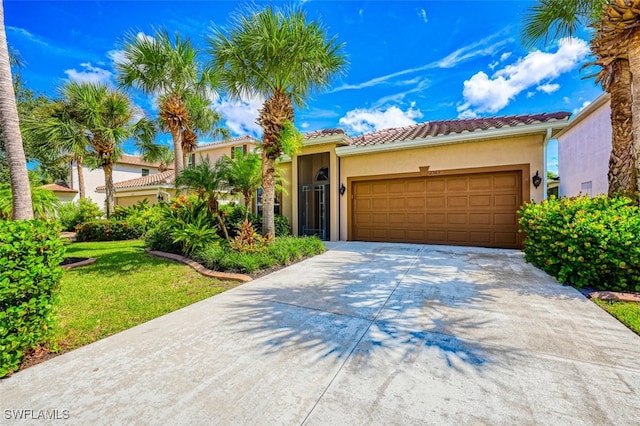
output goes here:
{"type": "Polygon", "coordinates": [[[516,248],[521,180],[509,171],[354,182],[353,239],[516,248]]]}

